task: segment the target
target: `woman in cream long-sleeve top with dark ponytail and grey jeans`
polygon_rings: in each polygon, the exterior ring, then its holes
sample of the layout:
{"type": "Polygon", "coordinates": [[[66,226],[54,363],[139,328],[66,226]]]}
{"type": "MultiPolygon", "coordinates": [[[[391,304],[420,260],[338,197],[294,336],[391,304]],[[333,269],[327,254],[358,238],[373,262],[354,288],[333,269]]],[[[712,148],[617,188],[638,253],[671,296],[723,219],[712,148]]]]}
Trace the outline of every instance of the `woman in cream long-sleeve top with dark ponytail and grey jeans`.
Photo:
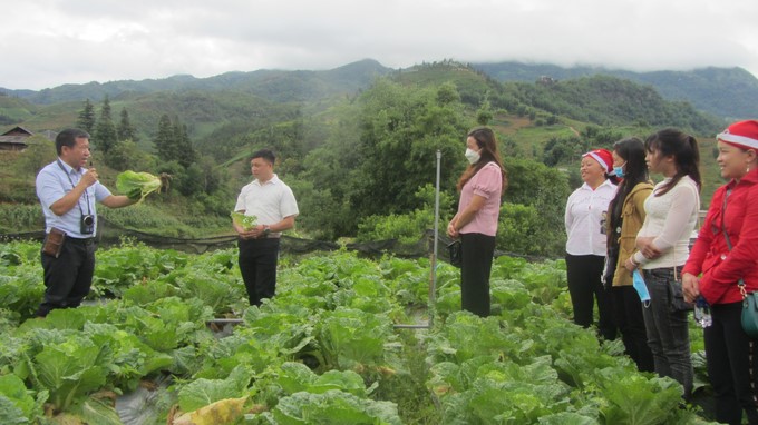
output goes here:
{"type": "Polygon", "coordinates": [[[624,266],[642,269],[650,305],[642,310],[655,373],[678,380],[683,397],[692,392],[692,362],[687,305],[679,283],[700,210],[700,152],[697,140],[676,129],[645,140],[650,172],[663,175],[644,202],[645,219],[636,235],[638,251],[624,266]]]}

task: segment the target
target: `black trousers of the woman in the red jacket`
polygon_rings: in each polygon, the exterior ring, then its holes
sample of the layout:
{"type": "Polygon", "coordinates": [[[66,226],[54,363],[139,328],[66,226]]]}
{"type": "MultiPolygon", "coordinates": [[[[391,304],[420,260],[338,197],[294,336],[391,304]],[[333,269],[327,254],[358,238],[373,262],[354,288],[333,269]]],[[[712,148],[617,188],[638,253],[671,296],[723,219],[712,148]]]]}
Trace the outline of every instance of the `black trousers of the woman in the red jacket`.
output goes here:
{"type": "Polygon", "coordinates": [[[708,377],[716,393],[716,421],[740,424],[742,411],[758,424],[758,340],[742,330],[742,303],[711,306],[713,324],[707,327],[708,377]]]}

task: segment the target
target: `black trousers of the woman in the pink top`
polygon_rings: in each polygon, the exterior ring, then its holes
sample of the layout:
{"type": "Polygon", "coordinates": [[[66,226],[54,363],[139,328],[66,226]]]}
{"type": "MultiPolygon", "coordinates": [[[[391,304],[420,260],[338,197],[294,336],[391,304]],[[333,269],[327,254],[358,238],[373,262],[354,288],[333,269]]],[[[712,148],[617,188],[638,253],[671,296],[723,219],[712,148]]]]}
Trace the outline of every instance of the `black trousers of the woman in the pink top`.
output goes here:
{"type": "Polygon", "coordinates": [[[489,316],[489,273],[495,256],[495,237],[460,234],[460,305],[475,315],[489,316]]]}

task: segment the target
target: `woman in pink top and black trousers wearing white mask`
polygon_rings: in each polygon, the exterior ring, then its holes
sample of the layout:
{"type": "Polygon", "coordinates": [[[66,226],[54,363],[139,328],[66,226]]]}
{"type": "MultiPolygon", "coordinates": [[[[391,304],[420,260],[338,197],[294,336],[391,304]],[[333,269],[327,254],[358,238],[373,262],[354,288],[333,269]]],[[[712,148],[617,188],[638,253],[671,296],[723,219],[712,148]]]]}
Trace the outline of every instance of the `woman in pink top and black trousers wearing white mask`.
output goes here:
{"type": "Polygon", "coordinates": [[[507,187],[507,179],[492,129],[477,127],[470,130],[465,155],[469,166],[458,179],[458,212],[447,225],[447,234],[461,240],[461,307],[486,317],[489,315],[489,271],[495,254],[501,196],[507,187]]]}

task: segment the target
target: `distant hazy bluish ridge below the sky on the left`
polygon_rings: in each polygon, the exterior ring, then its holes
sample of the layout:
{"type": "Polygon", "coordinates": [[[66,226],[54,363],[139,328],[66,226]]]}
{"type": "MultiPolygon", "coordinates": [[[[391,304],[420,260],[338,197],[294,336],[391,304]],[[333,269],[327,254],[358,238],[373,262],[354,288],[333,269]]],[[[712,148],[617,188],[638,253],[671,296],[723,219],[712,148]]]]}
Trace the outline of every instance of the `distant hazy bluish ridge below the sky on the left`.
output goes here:
{"type": "Polygon", "coordinates": [[[106,95],[140,95],[158,91],[234,91],[256,95],[273,101],[309,101],[337,95],[354,93],[368,87],[373,79],[391,72],[376,60],[366,59],[325,71],[257,70],[226,72],[208,78],[173,76],[140,81],[122,80],[62,85],[55,88],[10,90],[0,93],[18,97],[36,105],[52,105],[90,99],[100,101],[106,95]]]}

